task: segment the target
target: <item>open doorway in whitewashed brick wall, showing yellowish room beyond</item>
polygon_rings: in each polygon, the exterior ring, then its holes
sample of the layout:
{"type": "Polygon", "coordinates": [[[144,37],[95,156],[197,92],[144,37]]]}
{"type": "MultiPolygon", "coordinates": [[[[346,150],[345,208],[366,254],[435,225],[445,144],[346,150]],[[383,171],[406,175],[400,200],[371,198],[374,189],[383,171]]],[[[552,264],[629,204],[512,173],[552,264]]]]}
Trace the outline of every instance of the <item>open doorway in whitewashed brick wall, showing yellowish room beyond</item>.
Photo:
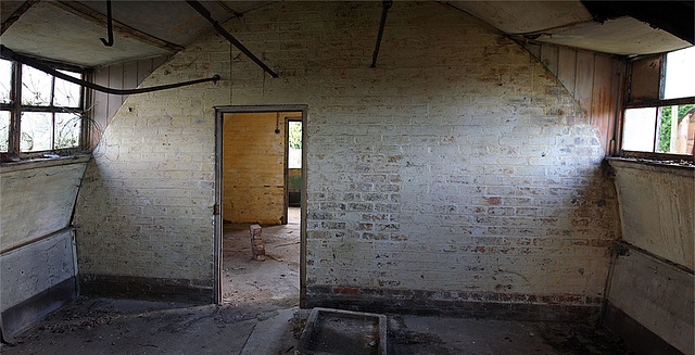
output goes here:
{"type": "Polygon", "coordinates": [[[217,303],[303,304],[304,115],[304,106],[217,109],[217,303]],[[263,256],[252,253],[252,225],[263,256]]]}

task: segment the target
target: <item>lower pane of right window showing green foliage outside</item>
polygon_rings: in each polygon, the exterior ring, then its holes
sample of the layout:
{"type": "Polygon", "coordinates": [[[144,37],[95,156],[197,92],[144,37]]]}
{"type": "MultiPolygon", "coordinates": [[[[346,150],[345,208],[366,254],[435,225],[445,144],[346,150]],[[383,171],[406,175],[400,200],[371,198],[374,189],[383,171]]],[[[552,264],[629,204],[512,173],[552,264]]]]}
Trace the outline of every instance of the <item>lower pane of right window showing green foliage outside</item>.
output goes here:
{"type": "Polygon", "coordinates": [[[695,135],[695,105],[666,106],[659,110],[659,143],[657,151],[692,154],[695,135]]]}

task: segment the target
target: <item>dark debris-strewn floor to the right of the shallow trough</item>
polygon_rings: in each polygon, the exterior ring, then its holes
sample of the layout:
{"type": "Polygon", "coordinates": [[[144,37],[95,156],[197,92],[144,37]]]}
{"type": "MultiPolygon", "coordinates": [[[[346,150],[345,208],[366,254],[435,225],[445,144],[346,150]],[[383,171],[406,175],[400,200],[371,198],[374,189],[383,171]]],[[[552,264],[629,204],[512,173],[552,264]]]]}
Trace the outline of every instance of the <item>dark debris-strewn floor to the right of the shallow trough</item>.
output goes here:
{"type": "Polygon", "coordinates": [[[633,354],[586,324],[389,315],[389,354],[633,354]]]}

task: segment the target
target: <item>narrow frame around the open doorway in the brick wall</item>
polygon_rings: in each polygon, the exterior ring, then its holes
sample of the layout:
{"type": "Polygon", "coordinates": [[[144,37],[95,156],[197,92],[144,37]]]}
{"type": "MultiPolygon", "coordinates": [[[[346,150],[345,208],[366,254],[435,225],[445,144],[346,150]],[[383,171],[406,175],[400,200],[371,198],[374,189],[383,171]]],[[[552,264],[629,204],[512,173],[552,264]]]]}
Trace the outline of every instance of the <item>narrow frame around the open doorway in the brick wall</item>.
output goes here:
{"type": "MultiPolygon", "coordinates": [[[[301,112],[302,113],[302,192],[301,192],[301,224],[300,224],[300,307],[306,305],[306,111],[305,104],[287,104],[287,105],[224,105],[215,106],[215,206],[214,206],[214,238],[213,238],[213,302],[222,304],[223,302],[223,173],[224,173],[224,115],[226,113],[275,113],[275,112],[301,112]]],[[[287,136],[286,130],[286,136],[287,136]]],[[[287,140],[287,138],[286,138],[287,140]]],[[[287,153],[286,153],[287,154],[287,153]]],[[[286,163],[287,165],[287,159],[286,163]]],[[[287,183],[287,179],[286,179],[287,183]]],[[[287,189],[286,189],[287,191],[287,189]]],[[[286,199],[287,201],[287,199],[286,199]]],[[[286,210],[287,214],[287,210],[286,210]]],[[[287,219],[287,218],[286,218],[287,219]]]]}

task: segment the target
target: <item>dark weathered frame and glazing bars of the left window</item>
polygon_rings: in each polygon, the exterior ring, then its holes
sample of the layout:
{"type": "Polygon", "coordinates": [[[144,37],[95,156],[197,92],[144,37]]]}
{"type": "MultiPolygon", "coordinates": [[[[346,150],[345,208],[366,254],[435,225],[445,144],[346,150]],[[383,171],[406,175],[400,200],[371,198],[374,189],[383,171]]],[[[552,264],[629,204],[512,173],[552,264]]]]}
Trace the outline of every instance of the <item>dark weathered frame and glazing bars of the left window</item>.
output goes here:
{"type": "MultiPolygon", "coordinates": [[[[78,106],[68,107],[68,106],[55,106],[53,104],[54,93],[55,93],[55,81],[60,78],[51,75],[51,96],[50,96],[50,104],[49,105],[26,105],[22,103],[22,71],[23,66],[28,66],[26,64],[22,64],[20,62],[2,59],[12,64],[12,75],[10,83],[10,102],[3,103],[0,102],[0,111],[7,111],[10,113],[10,129],[9,129],[9,145],[7,152],[0,152],[2,154],[0,159],[0,163],[4,163],[5,161],[18,157],[21,160],[29,160],[36,157],[43,157],[46,154],[53,155],[77,155],[85,151],[86,147],[89,144],[89,136],[88,136],[88,127],[86,126],[85,114],[88,111],[86,107],[88,101],[88,90],[85,87],[79,86],[79,99],[78,106]],[[41,151],[30,151],[23,152],[21,151],[21,137],[22,137],[22,113],[24,112],[42,112],[51,114],[51,149],[41,150],[41,151]],[[55,114],[56,113],[72,113],[80,116],[80,128],[79,128],[79,142],[76,147],[71,148],[60,148],[54,149],[55,147],[55,114]]],[[[81,79],[85,79],[89,73],[79,66],[70,65],[65,63],[50,62],[41,60],[41,62],[54,67],[59,71],[68,71],[72,73],[78,73],[81,79]]],[[[50,74],[49,74],[50,75],[50,74]]]]}

